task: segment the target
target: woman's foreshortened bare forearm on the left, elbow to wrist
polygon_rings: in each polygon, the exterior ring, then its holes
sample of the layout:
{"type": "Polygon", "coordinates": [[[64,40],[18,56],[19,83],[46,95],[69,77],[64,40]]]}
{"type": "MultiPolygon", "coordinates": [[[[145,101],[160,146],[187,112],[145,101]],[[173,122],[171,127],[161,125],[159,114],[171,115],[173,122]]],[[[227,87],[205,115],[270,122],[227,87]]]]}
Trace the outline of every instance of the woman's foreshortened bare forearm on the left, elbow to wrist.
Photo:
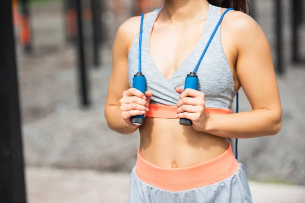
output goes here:
{"type": "Polygon", "coordinates": [[[106,106],[105,117],[107,120],[108,127],[120,134],[131,134],[138,129],[137,126],[129,126],[125,122],[125,120],[121,117],[121,111],[119,109],[119,106],[106,106]]]}

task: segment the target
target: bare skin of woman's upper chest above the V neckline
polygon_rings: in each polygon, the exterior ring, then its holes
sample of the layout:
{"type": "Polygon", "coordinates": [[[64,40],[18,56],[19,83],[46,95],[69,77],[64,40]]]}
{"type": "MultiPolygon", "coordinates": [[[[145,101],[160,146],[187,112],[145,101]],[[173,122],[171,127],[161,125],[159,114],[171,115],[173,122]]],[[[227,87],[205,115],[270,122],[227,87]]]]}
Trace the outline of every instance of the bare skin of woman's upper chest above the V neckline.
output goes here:
{"type": "Polygon", "coordinates": [[[149,55],[168,80],[194,52],[202,38],[204,26],[165,26],[156,23],[149,39],[149,55]]]}

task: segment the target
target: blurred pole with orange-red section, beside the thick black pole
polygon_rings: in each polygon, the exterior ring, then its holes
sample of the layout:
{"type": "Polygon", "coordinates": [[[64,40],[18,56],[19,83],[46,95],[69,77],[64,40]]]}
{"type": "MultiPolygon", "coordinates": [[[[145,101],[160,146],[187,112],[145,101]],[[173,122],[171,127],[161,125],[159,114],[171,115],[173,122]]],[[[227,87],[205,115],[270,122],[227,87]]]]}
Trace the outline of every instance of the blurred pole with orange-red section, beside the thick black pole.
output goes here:
{"type": "Polygon", "coordinates": [[[28,0],[19,0],[20,9],[20,43],[23,46],[25,53],[32,51],[32,31],[29,17],[29,2],[28,0]]]}

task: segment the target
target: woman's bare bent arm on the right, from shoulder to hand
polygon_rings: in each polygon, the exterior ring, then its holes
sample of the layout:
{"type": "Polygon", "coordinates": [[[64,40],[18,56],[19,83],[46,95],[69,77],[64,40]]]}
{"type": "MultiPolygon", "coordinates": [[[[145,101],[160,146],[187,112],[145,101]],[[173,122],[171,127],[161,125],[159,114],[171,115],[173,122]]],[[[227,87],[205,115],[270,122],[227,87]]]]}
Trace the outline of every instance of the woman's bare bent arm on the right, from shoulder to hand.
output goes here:
{"type": "MultiPolygon", "coordinates": [[[[282,109],[268,41],[258,24],[249,16],[232,12],[230,18],[235,23],[232,29],[235,32],[234,41],[238,53],[237,77],[253,110],[236,114],[200,113],[197,117],[193,113],[189,115],[197,118],[193,127],[227,138],[254,138],[277,134],[282,124],[282,109]]],[[[182,92],[180,98],[196,94],[197,99],[204,103],[203,93],[188,91],[182,92]]],[[[182,105],[183,102],[179,101],[178,107],[182,105]]],[[[185,113],[180,114],[178,117],[188,116],[184,115],[185,113]]]]}

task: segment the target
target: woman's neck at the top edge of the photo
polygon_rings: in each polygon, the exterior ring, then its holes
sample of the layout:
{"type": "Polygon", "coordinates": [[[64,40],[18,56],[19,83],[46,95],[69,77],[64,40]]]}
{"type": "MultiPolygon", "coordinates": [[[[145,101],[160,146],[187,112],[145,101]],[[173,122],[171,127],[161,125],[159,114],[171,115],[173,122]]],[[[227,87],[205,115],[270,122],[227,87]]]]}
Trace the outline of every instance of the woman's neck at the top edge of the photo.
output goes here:
{"type": "Polygon", "coordinates": [[[165,0],[159,19],[172,22],[203,20],[207,16],[207,0],[165,0]]]}

